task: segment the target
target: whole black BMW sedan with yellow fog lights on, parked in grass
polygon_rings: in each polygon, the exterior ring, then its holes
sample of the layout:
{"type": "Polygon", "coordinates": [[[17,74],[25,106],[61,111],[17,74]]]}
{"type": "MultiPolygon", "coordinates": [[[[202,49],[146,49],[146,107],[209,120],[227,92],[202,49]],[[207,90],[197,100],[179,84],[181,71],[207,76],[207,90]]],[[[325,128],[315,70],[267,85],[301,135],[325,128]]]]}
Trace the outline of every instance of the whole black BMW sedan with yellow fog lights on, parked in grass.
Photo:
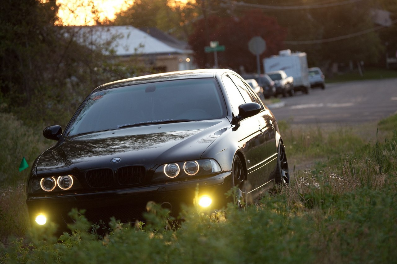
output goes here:
{"type": "Polygon", "coordinates": [[[133,222],[148,201],[178,214],[182,203],[193,205],[196,188],[200,206],[220,209],[233,186],[234,198],[250,203],[289,182],[274,115],[227,69],[103,84],[65,130],[43,134],[56,143],[27,179],[32,225],[52,221],[65,230],[72,208],[86,209],[92,222],[133,222]]]}

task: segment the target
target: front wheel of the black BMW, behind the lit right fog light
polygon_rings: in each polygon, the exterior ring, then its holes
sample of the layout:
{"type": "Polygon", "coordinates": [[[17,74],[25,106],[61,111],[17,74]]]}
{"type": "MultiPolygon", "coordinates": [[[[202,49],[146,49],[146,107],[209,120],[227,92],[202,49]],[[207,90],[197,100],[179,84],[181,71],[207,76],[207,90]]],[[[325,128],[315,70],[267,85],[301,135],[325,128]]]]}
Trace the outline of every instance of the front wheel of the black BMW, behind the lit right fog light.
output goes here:
{"type": "Polygon", "coordinates": [[[241,190],[245,180],[245,173],[243,163],[239,156],[235,155],[233,158],[233,166],[232,166],[232,187],[237,187],[235,196],[232,197],[233,203],[237,204],[239,209],[243,209],[245,207],[245,193],[241,190]]]}

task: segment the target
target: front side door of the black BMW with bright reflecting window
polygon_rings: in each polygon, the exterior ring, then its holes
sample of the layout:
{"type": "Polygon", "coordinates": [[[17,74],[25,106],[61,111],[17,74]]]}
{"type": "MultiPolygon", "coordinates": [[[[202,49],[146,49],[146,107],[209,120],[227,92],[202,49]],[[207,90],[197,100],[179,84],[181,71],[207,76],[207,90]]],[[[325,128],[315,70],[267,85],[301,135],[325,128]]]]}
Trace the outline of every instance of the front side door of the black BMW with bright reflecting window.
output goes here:
{"type": "MultiPolygon", "coordinates": [[[[250,92],[251,89],[247,87],[241,78],[233,74],[227,75],[227,78],[229,78],[229,80],[225,80],[225,82],[229,82],[229,85],[226,88],[229,98],[237,96],[243,98],[243,101],[240,99],[240,102],[233,102],[231,100],[235,115],[238,114],[238,103],[260,103],[256,96],[253,96],[252,92],[250,92]]],[[[264,177],[264,173],[266,173],[264,161],[267,159],[267,153],[266,140],[263,134],[263,127],[260,122],[262,116],[261,113],[247,119],[243,119],[240,122],[240,127],[235,131],[238,133],[240,141],[245,145],[243,151],[245,153],[245,162],[247,164],[248,174],[246,184],[247,193],[255,189],[259,189],[268,179],[267,175],[264,177]]]]}

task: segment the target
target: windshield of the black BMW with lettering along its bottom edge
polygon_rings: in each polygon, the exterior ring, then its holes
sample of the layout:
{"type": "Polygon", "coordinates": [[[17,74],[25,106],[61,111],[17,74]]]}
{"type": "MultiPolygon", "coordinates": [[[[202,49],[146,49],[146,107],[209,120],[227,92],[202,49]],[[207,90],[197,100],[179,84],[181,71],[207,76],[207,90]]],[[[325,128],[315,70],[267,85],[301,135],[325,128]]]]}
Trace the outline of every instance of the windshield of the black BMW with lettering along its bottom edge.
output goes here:
{"type": "Polygon", "coordinates": [[[94,92],[65,134],[225,116],[225,102],[214,78],[152,82],[94,92]]]}

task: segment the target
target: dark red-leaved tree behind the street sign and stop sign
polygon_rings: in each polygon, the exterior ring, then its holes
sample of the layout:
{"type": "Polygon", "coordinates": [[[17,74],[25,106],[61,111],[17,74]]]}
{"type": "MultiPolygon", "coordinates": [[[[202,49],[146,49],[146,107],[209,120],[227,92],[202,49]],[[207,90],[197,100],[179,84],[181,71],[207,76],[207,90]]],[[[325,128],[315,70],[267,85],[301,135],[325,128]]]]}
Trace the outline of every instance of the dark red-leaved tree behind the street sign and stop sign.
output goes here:
{"type": "MultiPolygon", "coordinates": [[[[261,11],[247,11],[241,17],[212,16],[208,19],[210,40],[225,45],[224,52],[218,52],[220,67],[227,67],[240,71],[243,66],[247,72],[256,71],[256,56],[249,51],[248,42],[254,36],[261,36],[266,41],[266,51],[260,55],[264,57],[278,54],[284,48],[283,40],[286,31],[280,27],[277,20],[263,15],[261,11]]],[[[189,44],[195,52],[195,63],[198,67],[212,67],[214,59],[206,63],[204,47],[208,46],[204,37],[204,21],[195,23],[195,32],[189,37],[189,44]]]]}

